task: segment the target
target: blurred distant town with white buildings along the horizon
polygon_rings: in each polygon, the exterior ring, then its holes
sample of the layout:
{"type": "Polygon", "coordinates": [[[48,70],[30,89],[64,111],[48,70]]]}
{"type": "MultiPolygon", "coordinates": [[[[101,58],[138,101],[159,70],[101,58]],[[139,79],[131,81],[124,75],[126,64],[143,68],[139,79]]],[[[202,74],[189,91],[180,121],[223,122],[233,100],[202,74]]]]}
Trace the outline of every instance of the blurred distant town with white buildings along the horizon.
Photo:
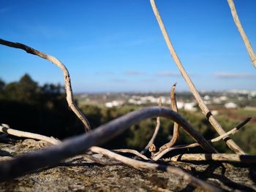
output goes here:
{"type": "MultiPolygon", "coordinates": [[[[219,109],[256,110],[256,91],[230,90],[225,92],[201,92],[205,103],[217,115],[219,109]]],[[[75,96],[78,104],[97,104],[105,107],[119,107],[122,105],[170,105],[170,93],[80,93],[75,96]]],[[[198,106],[192,93],[176,93],[178,109],[197,111],[198,106]]]]}

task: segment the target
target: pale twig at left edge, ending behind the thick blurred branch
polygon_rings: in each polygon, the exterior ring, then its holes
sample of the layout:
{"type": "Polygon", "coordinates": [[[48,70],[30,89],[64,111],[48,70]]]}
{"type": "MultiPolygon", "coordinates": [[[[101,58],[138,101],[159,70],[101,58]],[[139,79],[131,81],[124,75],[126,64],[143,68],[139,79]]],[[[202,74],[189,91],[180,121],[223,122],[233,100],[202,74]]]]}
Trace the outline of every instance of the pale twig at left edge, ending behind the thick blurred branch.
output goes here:
{"type": "Polygon", "coordinates": [[[33,133],[26,132],[26,131],[18,131],[18,130],[12,129],[12,128],[7,128],[6,126],[0,126],[0,132],[5,133],[5,134],[11,134],[16,137],[26,137],[26,138],[31,138],[31,139],[38,139],[38,140],[42,140],[42,141],[51,143],[53,145],[58,145],[61,143],[58,139],[55,139],[53,137],[46,137],[41,134],[33,134],[33,133]]]}

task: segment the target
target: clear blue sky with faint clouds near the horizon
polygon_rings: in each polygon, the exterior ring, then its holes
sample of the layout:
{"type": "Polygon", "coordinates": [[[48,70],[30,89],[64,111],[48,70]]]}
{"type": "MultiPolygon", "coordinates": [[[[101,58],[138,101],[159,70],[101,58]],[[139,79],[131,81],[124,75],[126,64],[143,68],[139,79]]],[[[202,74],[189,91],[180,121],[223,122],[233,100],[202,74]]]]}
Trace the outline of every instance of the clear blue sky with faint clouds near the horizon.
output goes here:
{"type": "MultiPolygon", "coordinates": [[[[234,1],[256,49],[256,1],[234,1]]],[[[225,0],[156,0],[173,46],[201,91],[256,90],[256,70],[225,0]]],[[[76,93],[188,90],[167,50],[149,0],[0,1],[0,38],[56,56],[76,93]]],[[[60,69],[0,45],[0,77],[61,82],[60,69]]]]}

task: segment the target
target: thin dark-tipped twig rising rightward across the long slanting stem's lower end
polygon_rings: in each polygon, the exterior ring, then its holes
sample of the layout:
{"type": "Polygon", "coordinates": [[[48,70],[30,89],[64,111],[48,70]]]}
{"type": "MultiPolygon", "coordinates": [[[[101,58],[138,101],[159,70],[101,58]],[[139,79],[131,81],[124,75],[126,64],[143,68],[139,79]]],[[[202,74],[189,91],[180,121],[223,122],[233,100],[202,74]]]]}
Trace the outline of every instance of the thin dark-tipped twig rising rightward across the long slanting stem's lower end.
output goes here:
{"type": "MultiPolygon", "coordinates": [[[[214,139],[209,140],[208,142],[219,142],[221,139],[223,139],[224,137],[227,137],[231,134],[236,134],[238,132],[238,130],[240,128],[242,128],[243,126],[246,125],[246,123],[249,122],[249,120],[251,120],[252,118],[246,118],[246,120],[244,120],[242,123],[239,123],[238,126],[236,126],[235,128],[231,129],[230,131],[227,131],[227,133],[220,135],[219,137],[216,137],[214,139]]],[[[192,148],[192,147],[198,147],[200,145],[198,145],[198,143],[192,143],[189,145],[176,145],[175,147],[169,147],[165,150],[163,150],[160,153],[155,153],[154,157],[152,158],[154,161],[158,161],[159,158],[162,158],[163,155],[165,155],[166,153],[169,153],[172,150],[178,150],[178,149],[185,149],[185,148],[192,148]]]]}

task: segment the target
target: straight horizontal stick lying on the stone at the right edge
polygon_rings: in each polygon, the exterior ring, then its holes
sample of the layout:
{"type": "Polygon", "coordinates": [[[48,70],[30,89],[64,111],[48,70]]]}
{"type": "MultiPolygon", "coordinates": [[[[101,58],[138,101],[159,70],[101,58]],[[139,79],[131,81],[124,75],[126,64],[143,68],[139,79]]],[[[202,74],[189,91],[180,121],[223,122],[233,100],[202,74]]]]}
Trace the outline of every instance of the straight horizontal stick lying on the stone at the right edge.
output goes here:
{"type": "Polygon", "coordinates": [[[256,155],[237,155],[227,153],[181,154],[168,158],[169,161],[235,161],[256,164],[256,155]]]}

